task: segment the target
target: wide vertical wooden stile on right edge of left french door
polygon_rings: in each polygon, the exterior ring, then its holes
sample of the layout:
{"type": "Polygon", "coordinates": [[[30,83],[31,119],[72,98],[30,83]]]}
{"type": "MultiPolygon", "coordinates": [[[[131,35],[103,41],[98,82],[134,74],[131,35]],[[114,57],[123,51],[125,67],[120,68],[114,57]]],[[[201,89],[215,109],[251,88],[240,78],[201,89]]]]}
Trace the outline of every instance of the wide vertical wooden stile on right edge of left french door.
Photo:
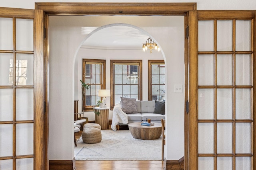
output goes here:
{"type": "Polygon", "coordinates": [[[34,131],[34,152],[35,152],[35,164],[34,169],[40,169],[44,167],[44,143],[47,139],[44,139],[44,23],[43,23],[43,11],[34,10],[34,58],[35,58],[35,77],[34,90],[37,93],[37,98],[34,99],[35,106],[35,129],[34,131]],[[40,113],[40,114],[39,114],[40,113]]]}

